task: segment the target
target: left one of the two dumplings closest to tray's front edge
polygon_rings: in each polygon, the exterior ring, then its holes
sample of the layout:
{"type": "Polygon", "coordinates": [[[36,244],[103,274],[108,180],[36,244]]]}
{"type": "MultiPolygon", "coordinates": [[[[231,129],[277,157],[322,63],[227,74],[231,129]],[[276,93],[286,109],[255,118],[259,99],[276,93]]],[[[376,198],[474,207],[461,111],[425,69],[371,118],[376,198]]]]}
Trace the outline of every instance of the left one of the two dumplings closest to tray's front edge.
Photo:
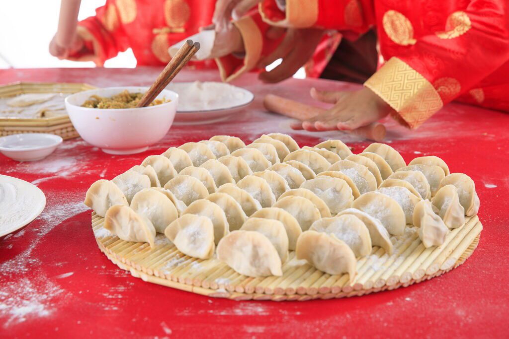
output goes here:
{"type": "Polygon", "coordinates": [[[283,275],[281,259],[270,240],[256,231],[233,231],[219,241],[217,259],[237,273],[252,276],[283,275]]]}

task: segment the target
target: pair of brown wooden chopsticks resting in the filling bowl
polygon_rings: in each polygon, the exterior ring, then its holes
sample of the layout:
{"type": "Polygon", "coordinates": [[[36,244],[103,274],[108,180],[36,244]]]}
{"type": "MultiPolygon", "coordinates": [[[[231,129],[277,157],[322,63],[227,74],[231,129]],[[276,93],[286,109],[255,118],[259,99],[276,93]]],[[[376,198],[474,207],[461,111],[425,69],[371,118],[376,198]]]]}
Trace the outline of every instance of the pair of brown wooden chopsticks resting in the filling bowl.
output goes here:
{"type": "Polygon", "coordinates": [[[169,61],[168,65],[159,74],[156,81],[150,86],[149,90],[140,99],[136,107],[146,107],[161,93],[170,81],[180,72],[180,70],[188,63],[191,57],[200,49],[199,42],[187,40],[175,56],[169,61]]]}

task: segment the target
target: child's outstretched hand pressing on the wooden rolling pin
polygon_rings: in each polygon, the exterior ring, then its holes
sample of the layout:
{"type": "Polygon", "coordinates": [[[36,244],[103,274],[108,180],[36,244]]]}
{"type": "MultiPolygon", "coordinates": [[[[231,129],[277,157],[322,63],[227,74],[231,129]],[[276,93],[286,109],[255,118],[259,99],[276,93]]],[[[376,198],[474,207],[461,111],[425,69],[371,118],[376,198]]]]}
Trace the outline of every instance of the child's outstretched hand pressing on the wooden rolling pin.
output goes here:
{"type": "Polygon", "coordinates": [[[292,124],[295,130],[351,131],[375,122],[387,114],[391,107],[369,88],[357,91],[318,91],[311,89],[315,100],[333,103],[334,106],[313,118],[292,124]]]}

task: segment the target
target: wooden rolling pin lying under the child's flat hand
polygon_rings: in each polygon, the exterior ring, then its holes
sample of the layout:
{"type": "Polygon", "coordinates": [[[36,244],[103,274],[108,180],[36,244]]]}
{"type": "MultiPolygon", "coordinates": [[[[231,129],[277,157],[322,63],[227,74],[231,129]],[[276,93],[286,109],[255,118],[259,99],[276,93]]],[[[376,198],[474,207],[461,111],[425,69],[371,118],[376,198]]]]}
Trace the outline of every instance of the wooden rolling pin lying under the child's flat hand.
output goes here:
{"type": "MultiPolygon", "coordinates": [[[[298,120],[306,120],[326,111],[324,108],[302,104],[273,94],[265,96],[263,105],[270,112],[286,115],[298,120]]],[[[386,130],[385,126],[380,124],[380,122],[373,122],[356,130],[344,132],[378,142],[385,138],[386,130]]]]}

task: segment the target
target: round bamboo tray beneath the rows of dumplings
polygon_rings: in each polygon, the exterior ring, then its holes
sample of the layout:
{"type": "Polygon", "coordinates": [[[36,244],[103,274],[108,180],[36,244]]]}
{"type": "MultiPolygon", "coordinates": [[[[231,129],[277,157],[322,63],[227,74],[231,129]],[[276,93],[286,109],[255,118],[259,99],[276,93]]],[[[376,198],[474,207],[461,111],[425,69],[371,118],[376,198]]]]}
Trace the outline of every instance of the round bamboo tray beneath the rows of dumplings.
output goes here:
{"type": "Polygon", "coordinates": [[[179,252],[164,235],[156,245],[129,242],[106,235],[104,219],[92,212],[92,229],[99,249],[120,268],[136,278],[179,290],[234,300],[310,300],[361,296],[420,283],[458,267],[473,253],[483,225],[477,215],[451,230],[440,246],[426,249],[414,228],[391,237],[394,253],[377,246],[370,256],[357,261],[357,275],[329,275],[297,260],[295,252],[283,265],[282,276],[249,278],[212,258],[201,260],[179,252]],[[105,236],[106,235],[106,236],[105,236]]]}

